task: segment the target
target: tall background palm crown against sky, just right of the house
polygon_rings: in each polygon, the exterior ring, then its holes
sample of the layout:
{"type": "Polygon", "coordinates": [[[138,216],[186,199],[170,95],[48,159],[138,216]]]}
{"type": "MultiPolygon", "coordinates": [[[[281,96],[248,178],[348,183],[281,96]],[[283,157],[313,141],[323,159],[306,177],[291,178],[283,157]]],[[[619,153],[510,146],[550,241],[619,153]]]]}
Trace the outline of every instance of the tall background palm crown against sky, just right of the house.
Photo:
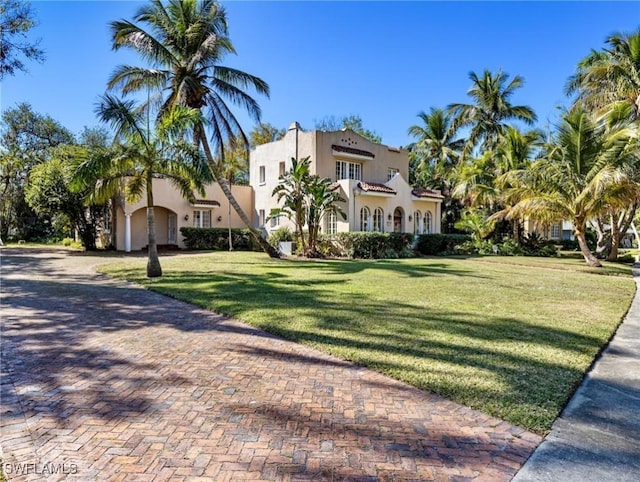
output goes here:
{"type": "Polygon", "coordinates": [[[477,147],[482,150],[494,149],[507,128],[507,122],[519,120],[532,125],[536,114],[526,105],[512,105],[510,98],[516,89],[524,85],[524,79],[516,75],[511,81],[502,71],[493,75],[485,70],[480,77],[475,72],[469,74],[473,82],[468,94],[472,104],[450,104],[448,113],[454,117],[456,128],[470,127],[465,146],[465,156],[477,147]]]}

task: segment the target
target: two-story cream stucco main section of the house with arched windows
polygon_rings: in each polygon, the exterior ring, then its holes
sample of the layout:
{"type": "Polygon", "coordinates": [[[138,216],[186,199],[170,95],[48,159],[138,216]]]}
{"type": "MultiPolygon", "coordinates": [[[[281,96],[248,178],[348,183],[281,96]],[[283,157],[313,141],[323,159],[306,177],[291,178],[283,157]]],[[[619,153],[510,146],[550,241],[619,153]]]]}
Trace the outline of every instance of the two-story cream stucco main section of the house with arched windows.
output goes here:
{"type": "Polygon", "coordinates": [[[249,182],[255,191],[254,216],[267,232],[287,219],[267,221],[278,207],[272,196],[279,177],[291,168],[291,158],[311,159],[311,173],[335,181],[346,202],[347,219],[328,215],[326,234],[348,231],[439,233],[443,196],[439,191],[414,189],[409,178],[409,156],[404,149],[376,144],[352,130],[333,132],[300,129],[294,122],[286,135],[257,146],[249,157],[249,182]]]}

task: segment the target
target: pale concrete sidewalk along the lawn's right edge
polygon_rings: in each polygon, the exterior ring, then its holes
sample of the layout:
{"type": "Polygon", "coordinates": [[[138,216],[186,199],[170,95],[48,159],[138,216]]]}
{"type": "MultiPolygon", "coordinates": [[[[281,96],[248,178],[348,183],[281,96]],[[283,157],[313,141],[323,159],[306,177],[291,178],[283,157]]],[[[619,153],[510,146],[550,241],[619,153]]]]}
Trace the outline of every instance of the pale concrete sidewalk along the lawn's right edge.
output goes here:
{"type": "MultiPolygon", "coordinates": [[[[640,266],[634,266],[640,289],[640,266]]],[[[514,482],[640,480],[640,294],[514,482]]]]}

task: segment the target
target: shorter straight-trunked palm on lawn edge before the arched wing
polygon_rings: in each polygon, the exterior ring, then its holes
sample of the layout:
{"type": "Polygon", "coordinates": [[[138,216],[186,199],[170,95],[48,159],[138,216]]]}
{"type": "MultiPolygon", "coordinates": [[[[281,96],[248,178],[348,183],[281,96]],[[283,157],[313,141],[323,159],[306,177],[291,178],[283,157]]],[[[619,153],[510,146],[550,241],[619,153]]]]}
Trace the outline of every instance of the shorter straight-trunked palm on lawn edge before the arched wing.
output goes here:
{"type": "Polygon", "coordinates": [[[88,202],[106,202],[121,192],[123,183],[128,201],[135,202],[146,195],[147,276],[162,276],[155,235],[153,180],[168,179],[187,199],[193,197],[194,190],[204,194],[206,182],[212,180],[206,159],[193,144],[176,136],[189,123],[197,122],[198,112],[176,109],[159,119],[155,132],[150,129],[148,111],[133,101],[105,95],[97,114],[114,128],[114,146],[80,164],[76,184],[95,183],[88,202]]]}

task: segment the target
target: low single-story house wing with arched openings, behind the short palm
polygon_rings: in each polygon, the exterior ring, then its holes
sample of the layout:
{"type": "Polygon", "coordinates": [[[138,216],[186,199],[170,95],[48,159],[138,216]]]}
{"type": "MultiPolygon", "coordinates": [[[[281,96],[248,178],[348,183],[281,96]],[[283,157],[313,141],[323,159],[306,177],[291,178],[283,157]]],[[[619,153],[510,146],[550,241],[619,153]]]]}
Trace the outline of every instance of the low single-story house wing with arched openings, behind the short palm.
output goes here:
{"type": "MultiPolygon", "coordinates": [[[[249,214],[253,211],[253,190],[250,186],[232,186],[231,191],[240,207],[249,214]]],[[[153,180],[156,242],[159,247],[184,248],[180,234],[182,227],[243,228],[244,224],[233,210],[218,184],[207,186],[205,195],[195,193],[195,199],[184,199],[166,179],[153,180]]],[[[107,217],[104,233],[119,251],[139,251],[148,243],[147,202],[142,196],[138,202],[128,203],[120,196],[107,217]]],[[[108,240],[103,240],[108,244],[108,240]]]]}

